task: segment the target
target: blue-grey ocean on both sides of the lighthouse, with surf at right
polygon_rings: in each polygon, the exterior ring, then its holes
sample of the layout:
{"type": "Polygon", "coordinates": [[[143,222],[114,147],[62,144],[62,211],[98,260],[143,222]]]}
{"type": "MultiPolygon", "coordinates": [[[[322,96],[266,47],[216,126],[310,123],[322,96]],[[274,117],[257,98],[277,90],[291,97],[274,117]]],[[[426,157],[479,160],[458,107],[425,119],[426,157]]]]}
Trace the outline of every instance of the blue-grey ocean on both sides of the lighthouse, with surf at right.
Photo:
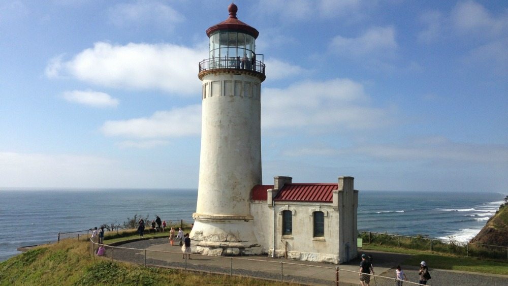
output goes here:
{"type": "MultiPolygon", "coordinates": [[[[501,193],[360,191],[358,230],[466,242],[503,203],[501,193]]],[[[0,189],[0,261],[58,232],[123,225],[135,214],[192,220],[196,189],[0,189]]]]}

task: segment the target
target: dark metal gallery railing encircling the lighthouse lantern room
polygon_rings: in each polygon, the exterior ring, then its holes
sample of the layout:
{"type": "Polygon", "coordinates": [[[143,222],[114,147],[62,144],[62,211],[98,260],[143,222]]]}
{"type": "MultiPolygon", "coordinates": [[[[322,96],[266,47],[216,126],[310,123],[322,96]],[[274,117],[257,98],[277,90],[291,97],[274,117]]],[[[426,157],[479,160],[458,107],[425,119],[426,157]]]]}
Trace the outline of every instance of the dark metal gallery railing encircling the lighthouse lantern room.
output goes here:
{"type": "Polygon", "coordinates": [[[236,70],[250,70],[265,74],[265,64],[260,60],[252,60],[243,57],[214,57],[203,59],[199,63],[199,72],[214,70],[214,69],[236,69],[236,70]]]}

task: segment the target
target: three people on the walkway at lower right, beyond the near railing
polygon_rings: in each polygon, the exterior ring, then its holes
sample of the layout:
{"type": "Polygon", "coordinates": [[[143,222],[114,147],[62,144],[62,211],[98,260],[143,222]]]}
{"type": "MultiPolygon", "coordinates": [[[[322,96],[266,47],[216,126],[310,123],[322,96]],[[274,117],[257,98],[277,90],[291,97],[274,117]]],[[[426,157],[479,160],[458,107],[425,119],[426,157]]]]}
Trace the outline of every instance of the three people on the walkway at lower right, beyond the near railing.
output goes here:
{"type": "MultiPolygon", "coordinates": [[[[368,256],[362,254],[362,262],[360,263],[360,284],[362,286],[370,286],[370,274],[375,275],[374,273],[374,266],[372,266],[372,256],[368,256]]],[[[429,268],[427,267],[427,263],[425,261],[422,261],[420,263],[420,271],[418,272],[418,275],[420,275],[420,280],[418,283],[420,284],[427,284],[427,281],[431,278],[429,273],[429,268]]],[[[407,280],[406,274],[400,267],[400,265],[397,265],[395,268],[395,278],[396,285],[402,286],[402,282],[404,280],[407,280]]],[[[375,276],[374,276],[375,279],[375,276]]],[[[376,283],[377,284],[377,283],[376,283]]]]}

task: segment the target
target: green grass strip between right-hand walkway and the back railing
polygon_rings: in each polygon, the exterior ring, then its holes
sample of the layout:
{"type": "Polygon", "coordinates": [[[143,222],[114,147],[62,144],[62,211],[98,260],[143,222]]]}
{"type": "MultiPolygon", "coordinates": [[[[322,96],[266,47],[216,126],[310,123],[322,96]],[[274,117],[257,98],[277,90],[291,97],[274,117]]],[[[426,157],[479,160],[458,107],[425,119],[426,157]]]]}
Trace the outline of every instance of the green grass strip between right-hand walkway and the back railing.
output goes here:
{"type": "Polygon", "coordinates": [[[412,256],[404,262],[407,265],[419,265],[421,261],[425,261],[431,268],[508,275],[508,261],[502,262],[471,257],[459,257],[424,250],[394,248],[372,244],[363,244],[363,249],[410,254],[412,256]]]}

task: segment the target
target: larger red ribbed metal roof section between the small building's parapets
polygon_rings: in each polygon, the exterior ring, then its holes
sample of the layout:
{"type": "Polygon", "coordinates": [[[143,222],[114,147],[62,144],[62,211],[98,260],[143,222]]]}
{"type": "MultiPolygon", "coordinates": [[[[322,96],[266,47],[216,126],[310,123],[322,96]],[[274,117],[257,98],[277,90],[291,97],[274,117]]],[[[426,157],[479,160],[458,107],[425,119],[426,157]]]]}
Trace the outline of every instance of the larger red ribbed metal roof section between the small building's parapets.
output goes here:
{"type": "Polygon", "coordinates": [[[337,188],[337,183],[285,184],[274,200],[331,203],[333,201],[332,191],[337,188]]]}

